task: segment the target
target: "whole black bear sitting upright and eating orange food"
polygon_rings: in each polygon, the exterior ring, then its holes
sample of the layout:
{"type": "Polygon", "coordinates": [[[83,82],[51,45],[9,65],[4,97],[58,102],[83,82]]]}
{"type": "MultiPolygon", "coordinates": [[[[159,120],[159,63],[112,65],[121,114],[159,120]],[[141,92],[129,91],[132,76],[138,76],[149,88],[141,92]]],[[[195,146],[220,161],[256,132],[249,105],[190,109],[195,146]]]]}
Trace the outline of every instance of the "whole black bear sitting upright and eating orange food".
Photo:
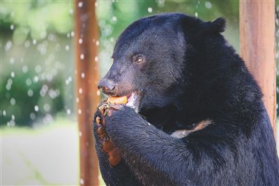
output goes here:
{"type": "Polygon", "coordinates": [[[116,41],[93,134],[107,185],[279,185],[262,92],[225,20],[144,17],[116,41]]]}

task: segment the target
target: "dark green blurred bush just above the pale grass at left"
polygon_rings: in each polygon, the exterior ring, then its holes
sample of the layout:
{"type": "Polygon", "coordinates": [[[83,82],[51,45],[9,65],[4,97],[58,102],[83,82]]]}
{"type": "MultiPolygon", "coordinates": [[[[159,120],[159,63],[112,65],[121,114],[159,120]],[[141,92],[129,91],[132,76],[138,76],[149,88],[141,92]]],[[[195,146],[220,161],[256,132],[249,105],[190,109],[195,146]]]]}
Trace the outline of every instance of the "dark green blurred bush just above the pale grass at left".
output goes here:
{"type": "Polygon", "coordinates": [[[54,114],[63,109],[63,92],[61,78],[55,81],[36,80],[38,76],[33,72],[22,73],[17,76],[1,80],[1,124],[13,127],[28,125],[46,114],[54,114]],[[30,77],[33,77],[31,79],[30,77]],[[7,82],[7,83],[6,83],[7,82]],[[6,91],[2,91],[6,90],[6,91]],[[4,115],[3,115],[4,114],[4,115]]]}

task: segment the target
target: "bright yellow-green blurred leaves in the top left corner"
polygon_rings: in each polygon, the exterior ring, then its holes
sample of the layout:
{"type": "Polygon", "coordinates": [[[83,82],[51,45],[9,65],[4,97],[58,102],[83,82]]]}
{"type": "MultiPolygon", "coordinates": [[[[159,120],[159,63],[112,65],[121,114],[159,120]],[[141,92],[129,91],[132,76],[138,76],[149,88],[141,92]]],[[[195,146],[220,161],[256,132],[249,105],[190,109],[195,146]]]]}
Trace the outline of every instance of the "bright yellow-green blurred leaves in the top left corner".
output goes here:
{"type": "Polygon", "coordinates": [[[40,40],[47,32],[65,34],[73,30],[73,1],[1,1],[1,31],[13,41],[23,43],[27,37],[40,40]]]}

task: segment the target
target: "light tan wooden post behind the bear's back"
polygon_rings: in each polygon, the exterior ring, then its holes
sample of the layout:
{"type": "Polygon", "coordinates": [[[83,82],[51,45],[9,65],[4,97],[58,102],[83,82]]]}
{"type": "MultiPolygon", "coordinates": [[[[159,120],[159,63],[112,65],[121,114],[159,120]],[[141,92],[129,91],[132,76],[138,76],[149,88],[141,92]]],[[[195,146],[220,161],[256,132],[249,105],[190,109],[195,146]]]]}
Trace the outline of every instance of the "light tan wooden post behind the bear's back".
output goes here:
{"type": "Polygon", "coordinates": [[[241,57],[264,93],[276,135],[275,1],[239,1],[241,57]]]}

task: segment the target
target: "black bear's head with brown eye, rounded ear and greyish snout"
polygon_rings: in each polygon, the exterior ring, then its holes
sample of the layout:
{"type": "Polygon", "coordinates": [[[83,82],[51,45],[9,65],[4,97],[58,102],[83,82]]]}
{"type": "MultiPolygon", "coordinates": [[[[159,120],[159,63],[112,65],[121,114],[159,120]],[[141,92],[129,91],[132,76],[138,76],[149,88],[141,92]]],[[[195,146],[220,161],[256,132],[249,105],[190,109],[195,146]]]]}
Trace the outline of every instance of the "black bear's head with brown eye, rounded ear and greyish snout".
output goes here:
{"type": "Polygon", "coordinates": [[[224,28],[223,18],[203,22],[181,13],[137,20],[116,41],[113,64],[98,88],[109,96],[128,96],[139,110],[179,102],[193,73],[189,60],[195,60],[195,45],[224,28]]]}

